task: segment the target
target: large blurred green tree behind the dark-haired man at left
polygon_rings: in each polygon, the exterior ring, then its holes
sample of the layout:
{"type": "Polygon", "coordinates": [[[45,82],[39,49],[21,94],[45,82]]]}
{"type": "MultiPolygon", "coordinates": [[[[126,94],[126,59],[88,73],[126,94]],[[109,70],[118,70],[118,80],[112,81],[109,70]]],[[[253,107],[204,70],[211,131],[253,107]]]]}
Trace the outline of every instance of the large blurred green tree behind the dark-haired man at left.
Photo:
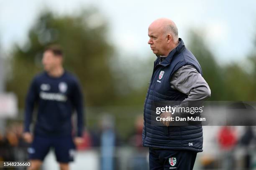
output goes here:
{"type": "Polygon", "coordinates": [[[108,42],[107,23],[99,13],[92,11],[95,10],[83,10],[79,15],[41,13],[29,30],[26,44],[13,47],[6,87],[18,96],[20,108],[24,107],[33,76],[42,71],[44,47],[55,43],[63,47],[64,67],[79,77],[87,105],[107,105],[115,99],[108,62],[114,48],[108,42]]]}

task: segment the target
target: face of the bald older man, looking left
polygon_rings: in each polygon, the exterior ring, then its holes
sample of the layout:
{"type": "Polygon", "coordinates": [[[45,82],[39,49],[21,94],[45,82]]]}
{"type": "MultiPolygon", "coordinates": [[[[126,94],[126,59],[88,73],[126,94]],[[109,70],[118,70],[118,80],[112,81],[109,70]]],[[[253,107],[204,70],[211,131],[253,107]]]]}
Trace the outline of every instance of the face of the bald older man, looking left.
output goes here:
{"type": "Polygon", "coordinates": [[[151,24],[148,27],[148,44],[151,47],[151,50],[156,55],[164,55],[167,45],[167,37],[164,35],[162,29],[155,24],[151,24]]]}

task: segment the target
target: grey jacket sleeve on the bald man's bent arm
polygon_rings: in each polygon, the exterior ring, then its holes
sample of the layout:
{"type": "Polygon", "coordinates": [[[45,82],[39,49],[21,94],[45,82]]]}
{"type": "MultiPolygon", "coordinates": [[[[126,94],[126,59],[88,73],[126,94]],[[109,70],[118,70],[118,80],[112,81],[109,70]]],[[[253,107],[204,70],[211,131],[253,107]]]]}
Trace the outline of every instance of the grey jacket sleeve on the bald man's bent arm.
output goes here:
{"type": "Polygon", "coordinates": [[[195,67],[191,65],[185,65],[174,72],[170,83],[172,88],[188,95],[182,101],[180,107],[186,107],[185,103],[189,101],[204,101],[211,95],[209,85],[195,67]]]}

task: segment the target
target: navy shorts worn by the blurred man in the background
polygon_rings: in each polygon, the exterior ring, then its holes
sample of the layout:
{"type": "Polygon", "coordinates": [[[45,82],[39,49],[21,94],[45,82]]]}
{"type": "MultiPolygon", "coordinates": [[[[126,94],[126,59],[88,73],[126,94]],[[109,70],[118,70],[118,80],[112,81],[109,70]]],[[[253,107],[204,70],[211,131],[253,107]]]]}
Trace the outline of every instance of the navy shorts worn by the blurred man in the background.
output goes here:
{"type": "Polygon", "coordinates": [[[34,136],[31,147],[28,148],[29,159],[43,161],[50,148],[54,149],[56,160],[59,163],[68,163],[74,160],[75,145],[71,136],[34,136]]]}

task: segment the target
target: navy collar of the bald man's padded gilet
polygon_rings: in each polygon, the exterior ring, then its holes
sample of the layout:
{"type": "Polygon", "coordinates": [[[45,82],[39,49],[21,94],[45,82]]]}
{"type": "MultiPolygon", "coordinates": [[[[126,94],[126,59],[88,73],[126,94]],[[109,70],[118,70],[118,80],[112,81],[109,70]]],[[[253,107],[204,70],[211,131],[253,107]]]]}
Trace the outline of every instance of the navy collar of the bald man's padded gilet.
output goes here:
{"type": "MultiPolygon", "coordinates": [[[[163,65],[164,67],[169,65],[172,61],[172,57],[174,56],[174,54],[180,53],[184,50],[185,45],[184,42],[181,38],[179,38],[179,44],[177,45],[177,47],[175,47],[170,53],[169,55],[160,63],[160,65],[163,65]]],[[[160,57],[158,57],[155,61],[155,65],[157,65],[159,63],[160,57]]]]}

